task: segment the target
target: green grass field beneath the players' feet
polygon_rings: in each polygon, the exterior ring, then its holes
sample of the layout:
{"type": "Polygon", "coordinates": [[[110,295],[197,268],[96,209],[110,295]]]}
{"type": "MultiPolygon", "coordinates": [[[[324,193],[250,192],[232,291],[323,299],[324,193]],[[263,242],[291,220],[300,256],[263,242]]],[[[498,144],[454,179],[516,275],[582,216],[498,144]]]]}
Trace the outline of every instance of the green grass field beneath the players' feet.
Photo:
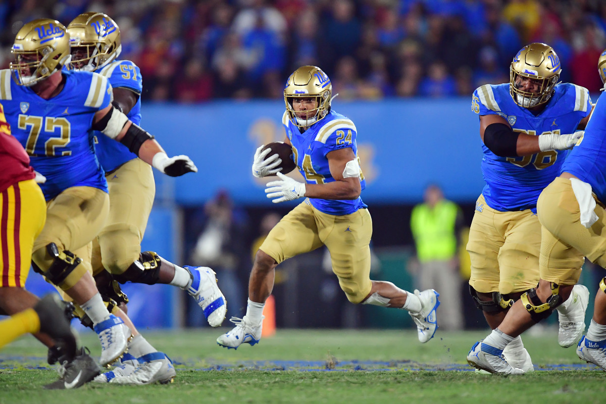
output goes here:
{"type": "MultiPolygon", "coordinates": [[[[221,348],[225,329],[147,332],[175,362],[172,385],[88,384],[46,391],[57,374],[33,337],[0,352],[0,403],[597,403],[606,373],[558,346],[557,330],[523,336],[538,371],[525,376],[476,374],[465,356],[486,331],[436,333],[421,344],[407,331],[278,330],[256,346],[221,348]],[[482,400],[482,401],[481,401],[482,400]]],[[[96,336],[81,335],[98,356],[96,336]]]]}

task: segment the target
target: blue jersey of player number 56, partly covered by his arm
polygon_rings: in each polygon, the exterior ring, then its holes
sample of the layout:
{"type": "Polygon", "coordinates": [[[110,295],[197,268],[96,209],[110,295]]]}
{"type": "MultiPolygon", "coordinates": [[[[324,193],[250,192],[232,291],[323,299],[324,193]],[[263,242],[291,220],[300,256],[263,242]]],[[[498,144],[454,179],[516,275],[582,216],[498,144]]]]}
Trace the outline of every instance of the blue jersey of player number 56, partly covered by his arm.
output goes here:
{"type": "MultiPolygon", "coordinates": [[[[513,131],[534,135],[574,133],[581,119],[591,111],[587,88],[558,84],[539,114],[513,101],[509,84],[482,85],[473,93],[471,110],[478,115],[500,115],[513,131]]],[[[548,150],[523,157],[499,157],[482,143],[482,194],[488,206],[498,211],[531,209],[543,188],[559,175],[568,151],[548,150]]]]}

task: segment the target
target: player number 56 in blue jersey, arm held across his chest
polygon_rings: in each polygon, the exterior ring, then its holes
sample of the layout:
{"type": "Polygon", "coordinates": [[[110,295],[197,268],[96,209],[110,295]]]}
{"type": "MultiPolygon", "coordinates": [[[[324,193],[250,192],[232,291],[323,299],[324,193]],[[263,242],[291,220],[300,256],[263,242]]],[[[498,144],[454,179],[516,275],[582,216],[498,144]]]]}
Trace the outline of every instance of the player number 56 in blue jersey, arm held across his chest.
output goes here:
{"type": "MultiPolygon", "coordinates": [[[[486,185],[476,202],[467,243],[469,284],[494,334],[500,333],[505,316],[513,314],[508,314],[511,305],[521,305],[514,302],[534,293],[539,268],[548,264],[543,254],[539,260],[545,233],[536,214],[537,199],[560,173],[567,149],[582,136],[582,131],[574,131],[585,127],[591,113],[587,89],[558,83],[561,71],[553,48],[533,43],[513,58],[509,83],[482,85],[473,93],[471,108],[479,115],[486,185]]],[[[561,295],[562,301],[569,294],[571,290],[561,295]]],[[[563,347],[576,343],[585,328],[588,290],[578,285],[572,295],[559,308],[558,342],[563,347]]],[[[534,313],[532,319],[538,322],[549,313],[534,313]]],[[[468,362],[491,373],[533,370],[519,334],[507,342],[498,349],[488,340],[477,343],[468,362]],[[501,361],[501,354],[511,366],[501,361]]]]}

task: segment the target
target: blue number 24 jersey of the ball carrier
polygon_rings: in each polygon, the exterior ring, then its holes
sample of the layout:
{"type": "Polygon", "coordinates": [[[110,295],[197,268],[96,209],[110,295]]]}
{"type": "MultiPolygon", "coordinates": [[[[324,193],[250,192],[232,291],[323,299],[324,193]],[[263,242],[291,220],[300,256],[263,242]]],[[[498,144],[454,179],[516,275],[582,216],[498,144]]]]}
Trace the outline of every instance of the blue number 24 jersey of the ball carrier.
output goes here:
{"type": "MultiPolygon", "coordinates": [[[[288,119],[288,114],[282,116],[282,124],[286,129],[288,139],[293,145],[293,156],[301,175],[307,184],[326,184],[335,182],[330,174],[326,155],[333,150],[350,147],[358,156],[356,137],[358,131],[350,119],[330,111],[321,121],[316,122],[301,133],[299,128],[288,119]]],[[[358,159],[359,161],[359,159],[358,159]]],[[[364,174],[360,174],[362,190],[366,188],[364,174]]],[[[310,198],[311,205],[321,212],[342,216],[367,206],[362,198],[353,200],[330,200],[310,198]]]]}

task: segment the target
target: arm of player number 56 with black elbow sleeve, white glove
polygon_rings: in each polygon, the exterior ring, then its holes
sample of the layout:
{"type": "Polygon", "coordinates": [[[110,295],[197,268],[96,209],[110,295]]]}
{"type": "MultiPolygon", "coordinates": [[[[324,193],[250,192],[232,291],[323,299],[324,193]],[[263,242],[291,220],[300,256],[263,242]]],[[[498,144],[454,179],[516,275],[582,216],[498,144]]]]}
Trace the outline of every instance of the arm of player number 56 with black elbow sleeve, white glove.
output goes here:
{"type": "Polygon", "coordinates": [[[572,148],[581,134],[547,133],[534,136],[515,132],[496,114],[480,115],[480,137],[482,142],[497,156],[528,156],[545,150],[565,150],[572,148]]]}

